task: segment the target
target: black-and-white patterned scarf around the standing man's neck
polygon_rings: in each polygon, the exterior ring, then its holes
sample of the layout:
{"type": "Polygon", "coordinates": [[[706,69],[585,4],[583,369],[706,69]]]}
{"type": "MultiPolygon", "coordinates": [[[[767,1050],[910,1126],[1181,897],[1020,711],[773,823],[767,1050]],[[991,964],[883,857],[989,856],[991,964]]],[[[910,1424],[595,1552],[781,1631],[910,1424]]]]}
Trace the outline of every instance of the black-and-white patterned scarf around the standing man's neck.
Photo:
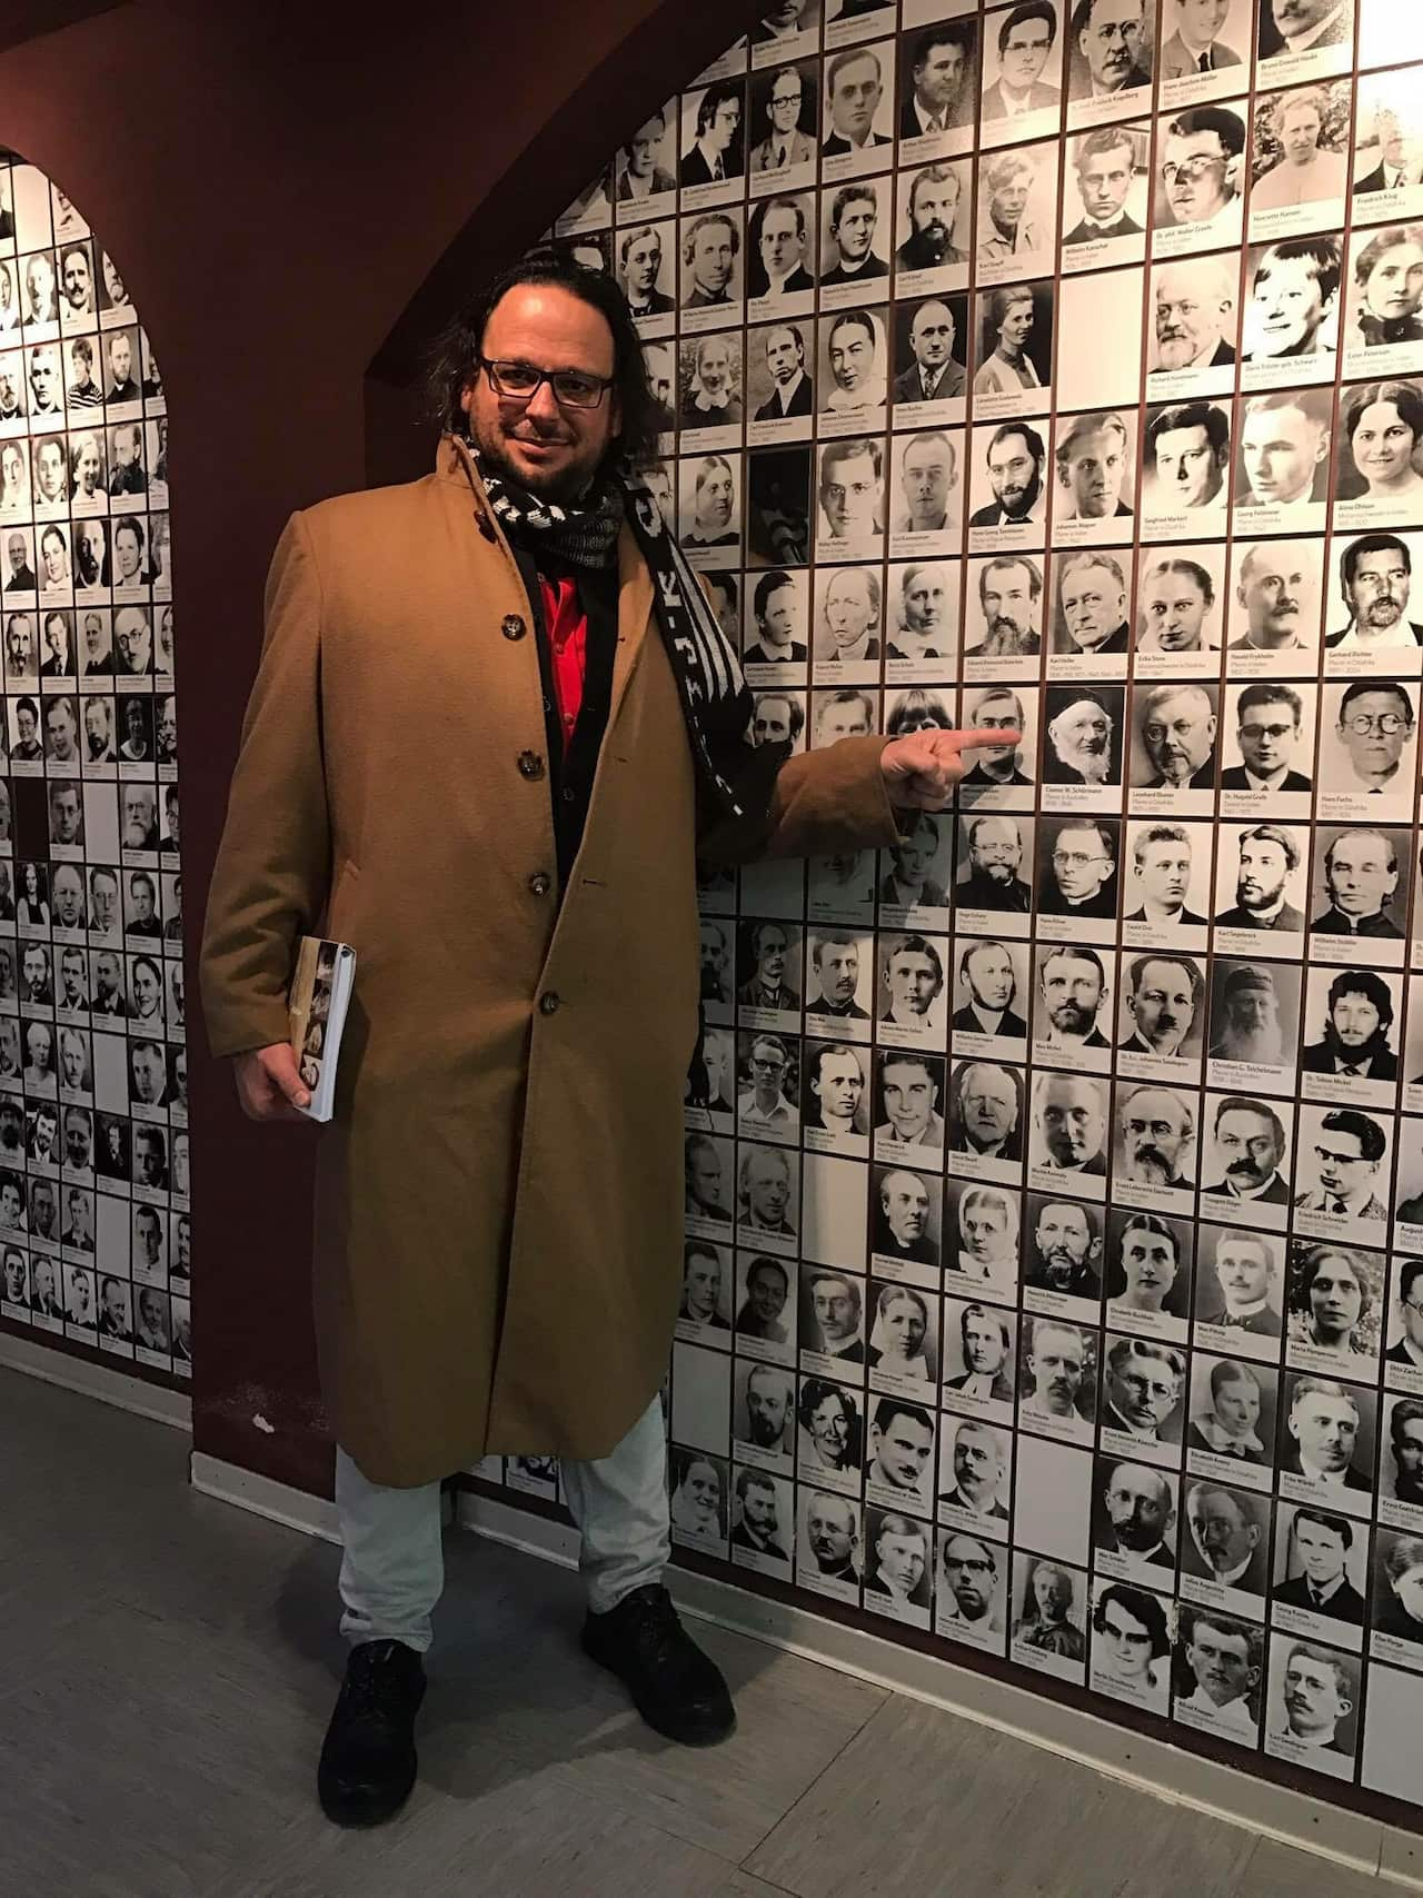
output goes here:
{"type": "Polygon", "coordinates": [[[603,474],[577,505],[545,501],[497,474],[465,438],[499,524],[507,533],[543,543],[575,566],[611,564],[626,520],[653,575],[653,611],[677,681],[693,757],[725,818],[748,829],[765,822],[778,746],[761,757],[748,740],[751,693],[736,649],[721,630],[681,547],[666,528],[653,493],[626,467],[603,474]]]}

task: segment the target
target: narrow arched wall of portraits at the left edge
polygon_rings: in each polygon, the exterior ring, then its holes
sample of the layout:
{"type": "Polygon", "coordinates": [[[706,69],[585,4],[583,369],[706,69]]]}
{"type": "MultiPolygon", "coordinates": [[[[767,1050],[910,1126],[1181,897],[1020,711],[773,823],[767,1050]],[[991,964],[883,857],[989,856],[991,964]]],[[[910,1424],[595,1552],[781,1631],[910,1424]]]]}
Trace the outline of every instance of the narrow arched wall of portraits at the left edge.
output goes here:
{"type": "Polygon", "coordinates": [[[114,258],[0,150],[0,1329],[186,1380],[167,400],[114,258]]]}

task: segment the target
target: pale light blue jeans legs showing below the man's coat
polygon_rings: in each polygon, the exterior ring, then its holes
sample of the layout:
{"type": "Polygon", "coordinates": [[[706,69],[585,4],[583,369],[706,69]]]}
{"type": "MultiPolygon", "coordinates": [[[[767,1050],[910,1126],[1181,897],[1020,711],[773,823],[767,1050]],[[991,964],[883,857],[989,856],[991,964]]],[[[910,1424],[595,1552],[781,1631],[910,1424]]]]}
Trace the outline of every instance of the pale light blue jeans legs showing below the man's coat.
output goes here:
{"type": "MultiPolygon", "coordinates": [[[[611,1456],[560,1460],[564,1499],[582,1532],[579,1570],[588,1608],[607,1613],[624,1594],[660,1581],[672,1553],[666,1425],[655,1397],[611,1456]]],[[[431,1613],[444,1587],[440,1484],[393,1490],[368,1482],[336,1450],[342,1522],[342,1634],[351,1642],[431,1646],[431,1613]]]]}

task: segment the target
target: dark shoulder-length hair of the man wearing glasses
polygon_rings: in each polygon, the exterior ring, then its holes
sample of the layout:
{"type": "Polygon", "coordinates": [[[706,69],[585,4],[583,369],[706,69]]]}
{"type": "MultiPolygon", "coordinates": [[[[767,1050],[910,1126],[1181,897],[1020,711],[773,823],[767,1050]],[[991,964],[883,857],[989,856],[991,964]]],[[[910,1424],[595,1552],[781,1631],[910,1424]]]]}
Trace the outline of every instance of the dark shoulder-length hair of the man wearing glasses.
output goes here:
{"type": "Polygon", "coordinates": [[[440,332],[431,363],[431,402],[440,427],[465,429],[459,397],[478,370],[484,330],[495,304],[522,283],[554,285],[596,309],[613,332],[613,378],[620,406],[617,452],[641,467],[656,457],[658,406],[647,381],[643,345],[617,283],[601,270],[577,264],[565,251],[545,245],[510,264],[472,298],[440,332]]]}

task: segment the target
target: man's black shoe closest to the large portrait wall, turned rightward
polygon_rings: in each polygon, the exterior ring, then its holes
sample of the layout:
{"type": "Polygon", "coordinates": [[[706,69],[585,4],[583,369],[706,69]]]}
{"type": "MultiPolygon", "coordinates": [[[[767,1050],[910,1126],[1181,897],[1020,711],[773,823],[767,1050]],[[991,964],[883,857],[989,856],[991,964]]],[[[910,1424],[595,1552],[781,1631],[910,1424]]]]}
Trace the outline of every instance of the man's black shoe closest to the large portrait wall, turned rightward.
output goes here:
{"type": "Polygon", "coordinates": [[[713,1746],[736,1725],[727,1682],[677,1619],[660,1583],[634,1589],[582,1623],[582,1649],[611,1668],[649,1727],[683,1746],[713,1746]]]}

